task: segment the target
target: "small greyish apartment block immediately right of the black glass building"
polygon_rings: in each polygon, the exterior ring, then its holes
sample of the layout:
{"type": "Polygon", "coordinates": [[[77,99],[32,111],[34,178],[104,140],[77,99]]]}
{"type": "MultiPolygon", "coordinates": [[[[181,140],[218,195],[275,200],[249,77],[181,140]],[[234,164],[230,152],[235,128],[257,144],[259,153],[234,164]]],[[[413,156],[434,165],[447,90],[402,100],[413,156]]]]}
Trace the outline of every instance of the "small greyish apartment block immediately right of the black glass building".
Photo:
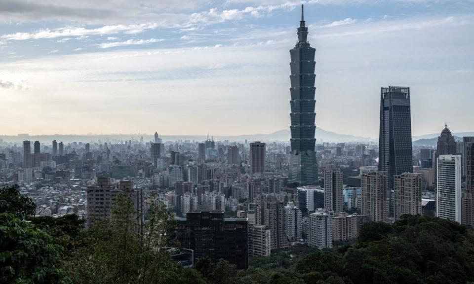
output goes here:
{"type": "Polygon", "coordinates": [[[272,243],[270,229],[265,225],[248,226],[248,253],[252,256],[270,256],[272,243]]]}

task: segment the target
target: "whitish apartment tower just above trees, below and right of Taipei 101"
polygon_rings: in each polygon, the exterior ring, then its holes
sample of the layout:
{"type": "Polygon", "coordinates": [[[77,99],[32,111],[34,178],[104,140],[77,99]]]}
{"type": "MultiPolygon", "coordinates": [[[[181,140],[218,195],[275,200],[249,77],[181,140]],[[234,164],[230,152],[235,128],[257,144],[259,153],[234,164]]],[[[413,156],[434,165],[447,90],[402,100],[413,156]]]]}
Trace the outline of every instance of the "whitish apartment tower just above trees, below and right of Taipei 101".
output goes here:
{"type": "Polygon", "coordinates": [[[311,213],[308,218],[306,240],[308,246],[317,249],[332,248],[332,215],[322,209],[311,213]]]}

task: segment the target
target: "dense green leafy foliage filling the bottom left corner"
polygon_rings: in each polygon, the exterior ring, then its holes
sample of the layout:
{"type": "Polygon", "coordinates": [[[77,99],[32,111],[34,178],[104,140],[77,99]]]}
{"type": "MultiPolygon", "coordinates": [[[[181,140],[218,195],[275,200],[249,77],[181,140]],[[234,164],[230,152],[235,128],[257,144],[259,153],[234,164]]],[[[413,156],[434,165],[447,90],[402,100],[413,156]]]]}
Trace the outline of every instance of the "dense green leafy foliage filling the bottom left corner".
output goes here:
{"type": "Polygon", "coordinates": [[[34,224],[0,213],[0,283],[68,283],[61,249],[34,224]]]}

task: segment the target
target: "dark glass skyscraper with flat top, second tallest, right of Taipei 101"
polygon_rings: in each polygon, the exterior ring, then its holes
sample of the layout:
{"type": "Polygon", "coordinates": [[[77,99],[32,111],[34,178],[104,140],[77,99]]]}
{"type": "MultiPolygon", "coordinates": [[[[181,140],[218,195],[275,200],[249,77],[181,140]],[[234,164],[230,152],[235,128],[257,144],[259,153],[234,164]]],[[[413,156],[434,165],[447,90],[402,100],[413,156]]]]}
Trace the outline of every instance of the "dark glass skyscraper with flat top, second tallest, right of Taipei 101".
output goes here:
{"type": "Polygon", "coordinates": [[[394,176],[413,173],[409,87],[380,90],[379,171],[388,173],[389,190],[394,176]]]}

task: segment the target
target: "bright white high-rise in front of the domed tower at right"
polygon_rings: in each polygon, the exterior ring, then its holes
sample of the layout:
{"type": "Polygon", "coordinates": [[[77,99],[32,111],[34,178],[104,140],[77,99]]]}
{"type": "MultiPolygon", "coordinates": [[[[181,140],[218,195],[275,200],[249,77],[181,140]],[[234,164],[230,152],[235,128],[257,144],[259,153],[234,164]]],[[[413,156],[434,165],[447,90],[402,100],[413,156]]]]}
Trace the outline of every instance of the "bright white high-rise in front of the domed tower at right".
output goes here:
{"type": "Polygon", "coordinates": [[[461,223],[461,156],[439,155],[436,169],[436,216],[461,223]]]}

